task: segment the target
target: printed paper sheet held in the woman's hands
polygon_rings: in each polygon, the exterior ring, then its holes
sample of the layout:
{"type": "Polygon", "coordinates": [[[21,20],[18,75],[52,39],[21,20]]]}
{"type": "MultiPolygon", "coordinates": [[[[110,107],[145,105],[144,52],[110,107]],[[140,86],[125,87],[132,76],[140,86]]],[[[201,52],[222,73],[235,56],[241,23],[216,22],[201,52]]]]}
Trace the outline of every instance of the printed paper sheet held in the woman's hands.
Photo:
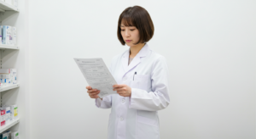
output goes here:
{"type": "Polygon", "coordinates": [[[82,71],[85,80],[92,89],[100,90],[99,97],[105,97],[110,94],[118,94],[113,91],[113,85],[117,82],[109,72],[102,58],[74,58],[82,71]]]}

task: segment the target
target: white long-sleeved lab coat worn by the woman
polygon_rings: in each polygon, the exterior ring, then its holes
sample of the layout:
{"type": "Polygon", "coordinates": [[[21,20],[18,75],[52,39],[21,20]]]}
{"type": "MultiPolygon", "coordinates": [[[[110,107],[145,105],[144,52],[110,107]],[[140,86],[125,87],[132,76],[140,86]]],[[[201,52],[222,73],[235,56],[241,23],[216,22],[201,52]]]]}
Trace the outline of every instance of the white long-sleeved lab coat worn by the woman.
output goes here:
{"type": "Polygon", "coordinates": [[[158,110],[170,103],[166,58],[148,44],[128,65],[129,54],[115,56],[109,69],[118,84],[131,87],[131,97],[96,98],[98,108],[111,108],[108,139],[160,139],[158,110]]]}

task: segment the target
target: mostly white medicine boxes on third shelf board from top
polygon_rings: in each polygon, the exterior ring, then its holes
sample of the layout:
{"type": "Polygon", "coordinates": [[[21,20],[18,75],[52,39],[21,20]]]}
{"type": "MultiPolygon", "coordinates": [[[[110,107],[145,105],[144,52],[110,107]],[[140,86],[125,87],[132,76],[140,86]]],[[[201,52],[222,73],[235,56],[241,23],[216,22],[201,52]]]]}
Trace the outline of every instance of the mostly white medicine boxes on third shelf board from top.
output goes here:
{"type": "Polygon", "coordinates": [[[0,69],[0,86],[9,86],[17,84],[16,69],[0,69]]]}

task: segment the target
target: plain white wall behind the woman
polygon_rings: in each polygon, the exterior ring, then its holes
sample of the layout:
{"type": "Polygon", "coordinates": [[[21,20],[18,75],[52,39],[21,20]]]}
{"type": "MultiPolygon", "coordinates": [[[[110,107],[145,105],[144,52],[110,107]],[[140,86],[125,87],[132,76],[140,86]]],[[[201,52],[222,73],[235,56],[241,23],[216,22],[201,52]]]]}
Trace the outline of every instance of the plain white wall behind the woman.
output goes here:
{"type": "Polygon", "coordinates": [[[253,139],[253,0],[29,1],[30,138],[106,138],[109,109],[88,97],[73,58],[101,57],[109,65],[125,51],[117,22],[133,5],[151,15],[155,34],[148,44],[170,68],[161,138],[253,139]]]}

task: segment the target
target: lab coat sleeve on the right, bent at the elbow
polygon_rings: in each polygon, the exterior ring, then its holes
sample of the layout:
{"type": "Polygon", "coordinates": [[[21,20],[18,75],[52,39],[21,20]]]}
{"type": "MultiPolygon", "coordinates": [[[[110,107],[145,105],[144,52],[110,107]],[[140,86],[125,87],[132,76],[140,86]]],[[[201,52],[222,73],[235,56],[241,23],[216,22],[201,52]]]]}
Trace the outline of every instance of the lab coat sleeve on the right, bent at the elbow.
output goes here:
{"type": "Polygon", "coordinates": [[[151,90],[152,92],[147,92],[142,89],[131,88],[129,108],[157,111],[169,105],[168,66],[164,57],[155,60],[152,66],[151,90]]]}

